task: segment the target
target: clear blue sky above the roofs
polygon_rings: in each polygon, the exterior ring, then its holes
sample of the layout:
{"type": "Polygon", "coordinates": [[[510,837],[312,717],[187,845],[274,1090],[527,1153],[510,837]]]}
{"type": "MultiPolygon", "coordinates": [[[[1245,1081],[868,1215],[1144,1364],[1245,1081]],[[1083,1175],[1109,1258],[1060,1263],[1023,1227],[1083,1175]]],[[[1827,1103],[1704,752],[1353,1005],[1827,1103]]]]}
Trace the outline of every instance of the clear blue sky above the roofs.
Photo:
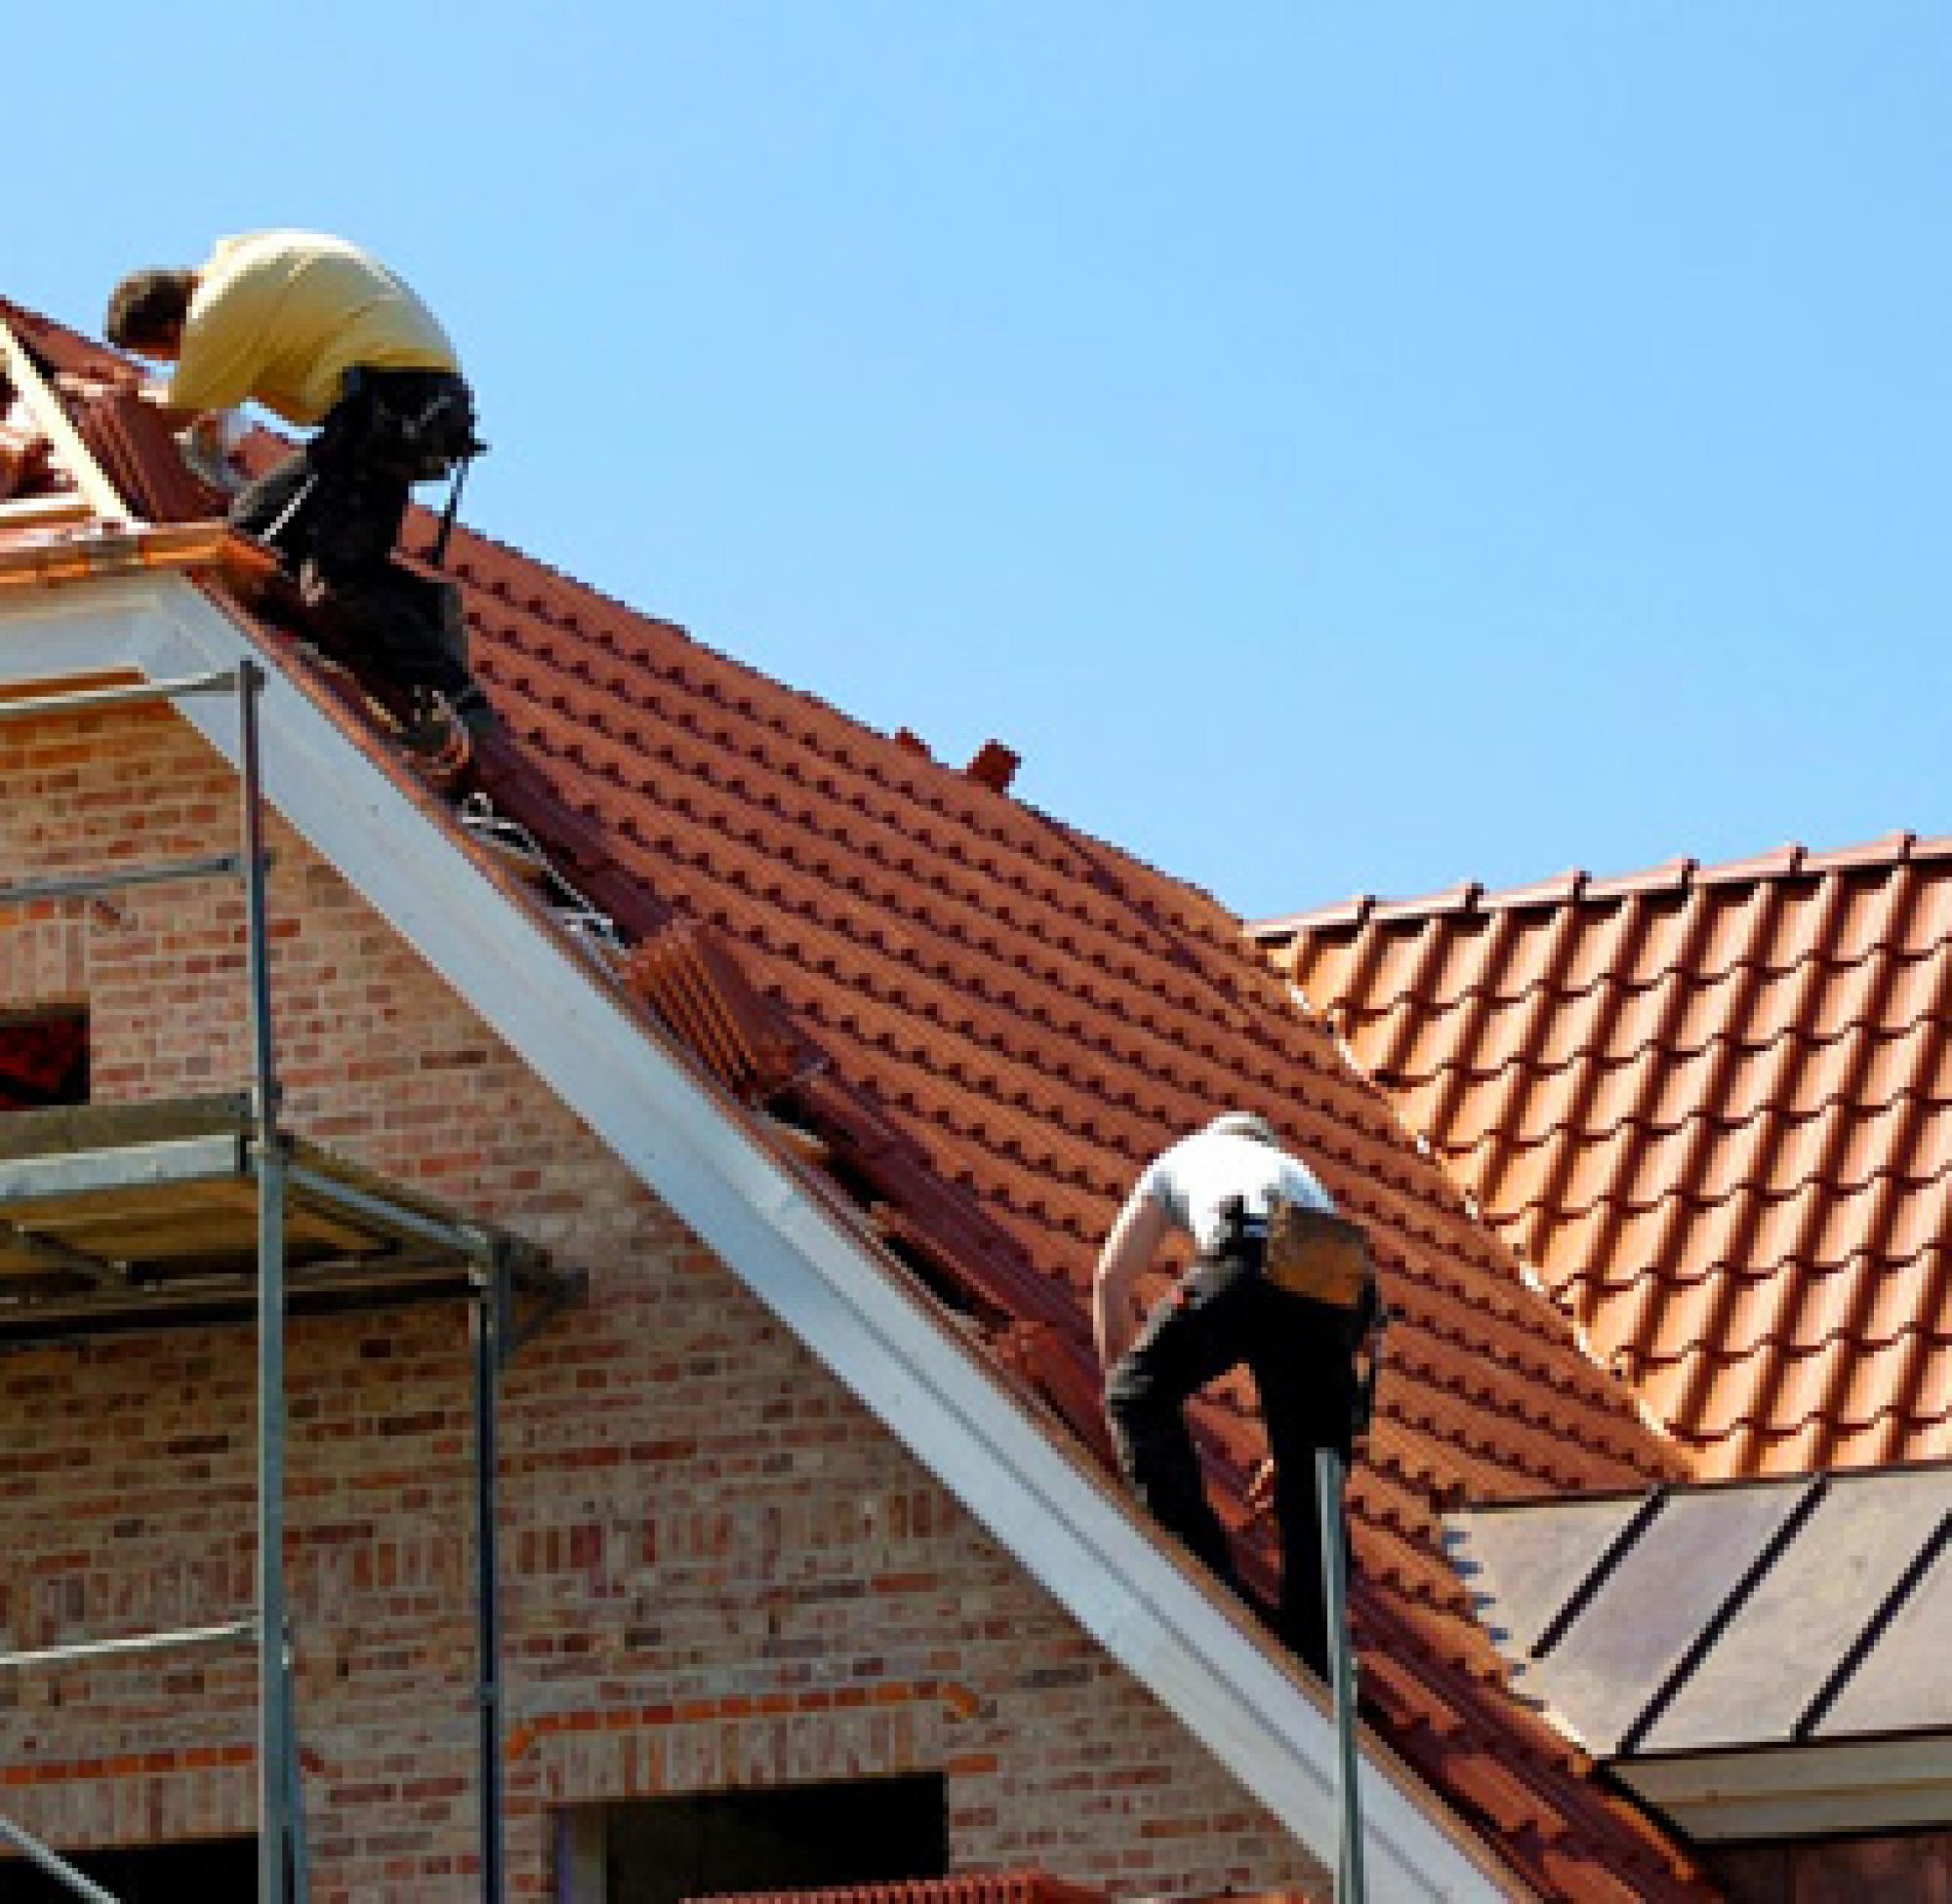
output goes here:
{"type": "Polygon", "coordinates": [[[441,312],[470,517],[1257,917],[1952,831],[1942,0],[92,6],[4,289],[441,312]]]}

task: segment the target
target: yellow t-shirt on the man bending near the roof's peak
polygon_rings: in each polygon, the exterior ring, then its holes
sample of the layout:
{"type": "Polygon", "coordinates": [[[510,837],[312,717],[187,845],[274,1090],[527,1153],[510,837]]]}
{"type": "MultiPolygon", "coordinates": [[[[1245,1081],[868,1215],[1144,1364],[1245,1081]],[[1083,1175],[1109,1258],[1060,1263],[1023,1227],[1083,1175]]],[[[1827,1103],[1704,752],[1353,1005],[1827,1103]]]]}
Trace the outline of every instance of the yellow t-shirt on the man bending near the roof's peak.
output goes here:
{"type": "Polygon", "coordinates": [[[260,402],[287,423],[316,423],[355,365],[461,369],[433,312],[359,246],[246,232],[221,238],[197,273],[170,406],[260,402]]]}

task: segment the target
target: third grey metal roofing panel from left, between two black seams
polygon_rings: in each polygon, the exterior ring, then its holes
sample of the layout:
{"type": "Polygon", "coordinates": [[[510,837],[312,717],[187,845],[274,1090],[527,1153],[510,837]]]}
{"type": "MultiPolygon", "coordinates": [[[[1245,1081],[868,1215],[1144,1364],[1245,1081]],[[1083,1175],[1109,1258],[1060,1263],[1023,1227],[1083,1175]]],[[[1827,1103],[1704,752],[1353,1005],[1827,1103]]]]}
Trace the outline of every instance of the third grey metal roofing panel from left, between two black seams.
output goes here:
{"type": "MultiPolygon", "coordinates": [[[[1833,1475],[1810,1522],[1677,1691],[1640,1750],[1790,1742],[1798,1719],[1903,1578],[1946,1508],[1952,1508],[1952,1471],[1833,1475]]],[[[1952,1691],[1952,1678],[1946,1689],[1952,1691]]],[[[1940,1717],[1952,1713],[1952,1701],[1940,1699],[1938,1711],[1940,1717]]],[[[1837,1717],[1835,1709],[1831,1717],[1837,1717]]],[[[1864,1725],[1850,1730],[1882,1728],[1864,1725]]]]}

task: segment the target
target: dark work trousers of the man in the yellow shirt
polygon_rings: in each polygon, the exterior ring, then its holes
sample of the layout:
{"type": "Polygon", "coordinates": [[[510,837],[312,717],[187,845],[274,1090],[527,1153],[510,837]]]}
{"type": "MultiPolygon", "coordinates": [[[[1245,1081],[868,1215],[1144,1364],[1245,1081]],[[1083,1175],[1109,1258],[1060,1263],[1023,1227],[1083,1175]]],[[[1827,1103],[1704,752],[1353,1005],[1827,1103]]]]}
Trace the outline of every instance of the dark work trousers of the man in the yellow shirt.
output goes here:
{"type": "Polygon", "coordinates": [[[447,589],[392,560],[412,470],[390,417],[418,414],[457,384],[467,390],[453,371],[361,371],[318,435],[230,503],[234,527],[277,546],[332,646],[396,687],[439,689],[449,700],[474,677],[447,589]]]}

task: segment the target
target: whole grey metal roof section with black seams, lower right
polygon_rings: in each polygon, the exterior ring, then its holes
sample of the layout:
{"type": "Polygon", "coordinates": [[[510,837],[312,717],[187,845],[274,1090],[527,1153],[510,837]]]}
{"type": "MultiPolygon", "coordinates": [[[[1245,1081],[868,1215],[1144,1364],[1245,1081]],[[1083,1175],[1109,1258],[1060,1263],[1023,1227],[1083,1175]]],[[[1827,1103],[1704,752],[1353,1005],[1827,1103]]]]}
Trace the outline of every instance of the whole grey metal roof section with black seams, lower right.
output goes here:
{"type": "Polygon", "coordinates": [[[1597,1758],[1952,1734],[1952,1463],[1474,1508],[1448,1545],[1597,1758]]]}

